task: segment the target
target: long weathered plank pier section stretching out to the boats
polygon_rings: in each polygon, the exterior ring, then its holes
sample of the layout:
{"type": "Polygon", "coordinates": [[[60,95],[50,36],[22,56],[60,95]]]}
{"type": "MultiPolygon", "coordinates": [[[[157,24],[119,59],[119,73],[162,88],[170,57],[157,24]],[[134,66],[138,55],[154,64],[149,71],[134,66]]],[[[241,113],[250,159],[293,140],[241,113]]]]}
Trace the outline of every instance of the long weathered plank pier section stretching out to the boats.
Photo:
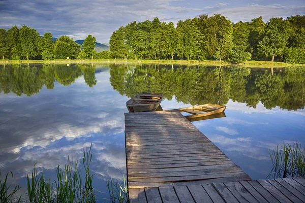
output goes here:
{"type": "Polygon", "coordinates": [[[126,113],[125,127],[130,189],[251,180],[179,112],[126,113]]]}

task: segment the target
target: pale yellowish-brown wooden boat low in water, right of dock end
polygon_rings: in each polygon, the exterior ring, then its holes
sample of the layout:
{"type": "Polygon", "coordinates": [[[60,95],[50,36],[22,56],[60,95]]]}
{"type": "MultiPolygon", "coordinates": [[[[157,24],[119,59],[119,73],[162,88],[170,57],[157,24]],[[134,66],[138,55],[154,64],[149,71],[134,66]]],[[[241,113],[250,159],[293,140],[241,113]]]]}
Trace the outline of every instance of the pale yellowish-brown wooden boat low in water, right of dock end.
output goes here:
{"type": "Polygon", "coordinates": [[[194,118],[200,118],[200,117],[210,116],[213,114],[224,112],[226,108],[227,108],[226,106],[221,106],[221,105],[205,104],[205,105],[185,107],[180,109],[170,109],[170,110],[165,110],[165,112],[173,112],[173,111],[186,112],[192,114],[185,116],[187,119],[194,119],[194,118]]]}

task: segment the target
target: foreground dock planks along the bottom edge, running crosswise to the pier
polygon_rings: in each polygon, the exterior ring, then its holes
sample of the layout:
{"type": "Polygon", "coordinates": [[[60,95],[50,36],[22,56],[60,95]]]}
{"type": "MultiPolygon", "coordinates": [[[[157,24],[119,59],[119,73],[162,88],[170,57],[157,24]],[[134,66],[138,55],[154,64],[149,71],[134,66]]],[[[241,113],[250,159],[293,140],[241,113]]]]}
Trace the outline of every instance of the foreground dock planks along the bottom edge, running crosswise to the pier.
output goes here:
{"type": "Polygon", "coordinates": [[[305,202],[305,178],[130,189],[130,202],[305,202]],[[147,196],[148,195],[148,196],[147,196]],[[146,198],[145,198],[146,197],[146,198]]]}

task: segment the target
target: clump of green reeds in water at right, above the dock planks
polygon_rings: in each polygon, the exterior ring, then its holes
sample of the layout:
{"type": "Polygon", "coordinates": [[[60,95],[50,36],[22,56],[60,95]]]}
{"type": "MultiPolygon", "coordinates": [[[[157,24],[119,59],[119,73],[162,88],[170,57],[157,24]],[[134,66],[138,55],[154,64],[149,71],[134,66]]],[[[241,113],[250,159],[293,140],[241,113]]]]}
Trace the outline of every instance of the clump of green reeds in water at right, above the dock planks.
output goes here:
{"type": "Polygon", "coordinates": [[[277,146],[269,154],[273,167],[268,178],[305,176],[305,147],[298,142],[292,146],[284,143],[281,149],[277,146]]]}

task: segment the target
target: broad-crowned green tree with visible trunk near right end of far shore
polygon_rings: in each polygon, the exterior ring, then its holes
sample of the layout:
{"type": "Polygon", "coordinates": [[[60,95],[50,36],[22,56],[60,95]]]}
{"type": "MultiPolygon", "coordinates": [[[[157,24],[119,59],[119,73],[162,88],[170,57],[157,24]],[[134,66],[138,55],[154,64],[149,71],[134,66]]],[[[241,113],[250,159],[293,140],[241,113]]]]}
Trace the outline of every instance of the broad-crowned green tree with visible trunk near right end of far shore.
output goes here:
{"type": "Polygon", "coordinates": [[[258,43],[259,54],[264,57],[271,57],[271,61],[276,55],[282,55],[287,47],[290,32],[289,21],[283,18],[271,18],[267,22],[263,39],[258,43]]]}

